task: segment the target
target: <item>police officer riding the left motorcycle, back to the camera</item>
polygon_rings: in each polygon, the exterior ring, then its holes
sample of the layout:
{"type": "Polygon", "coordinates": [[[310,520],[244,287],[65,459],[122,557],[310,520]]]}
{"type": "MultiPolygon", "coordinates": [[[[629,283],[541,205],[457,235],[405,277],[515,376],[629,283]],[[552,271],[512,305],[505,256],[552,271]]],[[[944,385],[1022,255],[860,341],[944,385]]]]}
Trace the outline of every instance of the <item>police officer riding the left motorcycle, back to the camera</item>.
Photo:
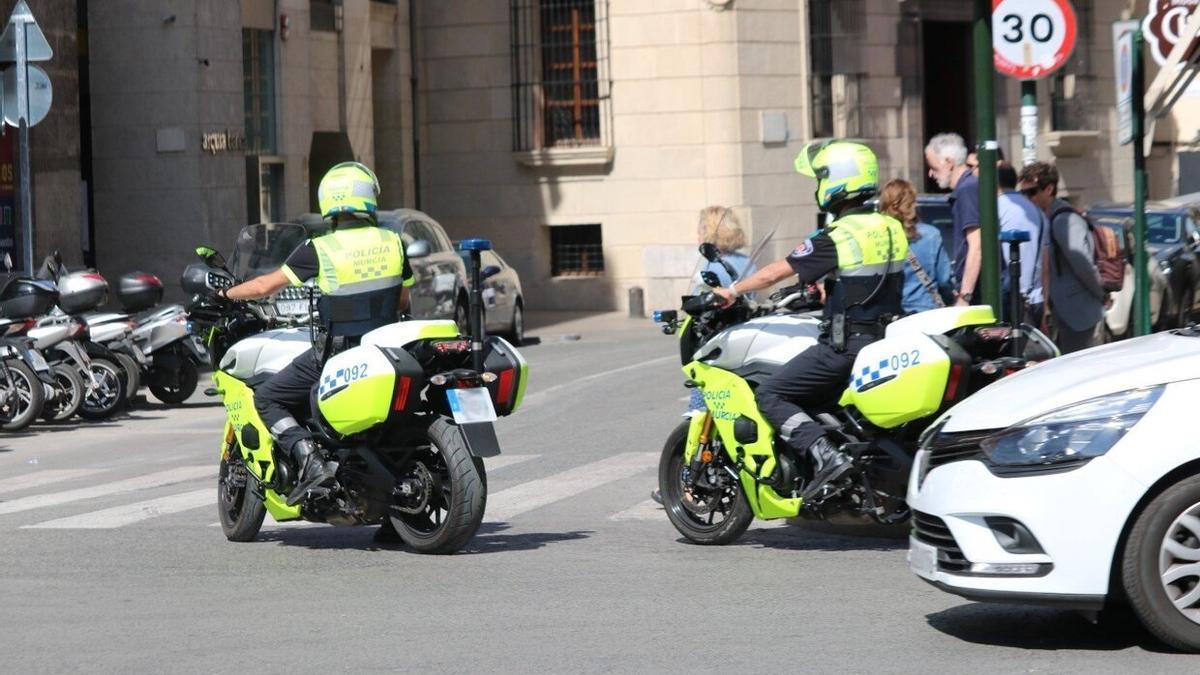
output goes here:
{"type": "Polygon", "coordinates": [[[408,309],[413,271],[400,235],[378,226],[378,199],[379,181],[371,169],[359,162],[335,166],[317,189],[330,232],[301,244],[280,269],[218,293],[229,300],[250,300],[308,280],[316,280],[322,292],[324,348],[300,354],[254,392],[258,414],[300,467],[289,504],[331,483],[336,471],[336,465],[322,460],[312,435],[293,416],[307,410],[324,359],[356,345],[367,331],[394,323],[408,309]]]}

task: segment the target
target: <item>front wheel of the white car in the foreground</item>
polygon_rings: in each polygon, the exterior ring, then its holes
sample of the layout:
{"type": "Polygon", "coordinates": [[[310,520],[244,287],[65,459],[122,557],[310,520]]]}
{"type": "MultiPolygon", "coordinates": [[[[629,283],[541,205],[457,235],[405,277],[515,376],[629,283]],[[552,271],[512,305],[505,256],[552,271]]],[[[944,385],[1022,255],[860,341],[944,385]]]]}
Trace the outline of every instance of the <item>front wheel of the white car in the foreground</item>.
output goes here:
{"type": "Polygon", "coordinates": [[[1200,651],[1200,476],[1166,489],[1138,515],[1121,569],[1146,628],[1175,649],[1200,651]]]}

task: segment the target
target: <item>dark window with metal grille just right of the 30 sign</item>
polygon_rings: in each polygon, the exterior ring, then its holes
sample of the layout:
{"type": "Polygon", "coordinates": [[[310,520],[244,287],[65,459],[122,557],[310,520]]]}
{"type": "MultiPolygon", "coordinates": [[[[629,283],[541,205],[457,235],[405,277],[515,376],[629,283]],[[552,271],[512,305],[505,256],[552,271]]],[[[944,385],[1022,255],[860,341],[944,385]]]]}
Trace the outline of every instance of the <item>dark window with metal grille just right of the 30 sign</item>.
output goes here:
{"type": "Polygon", "coordinates": [[[1075,0],[1075,50],[1067,64],[1050,77],[1050,127],[1055,131],[1086,131],[1097,127],[1094,110],[1097,77],[1088,52],[1092,48],[1094,0],[1075,0]]]}

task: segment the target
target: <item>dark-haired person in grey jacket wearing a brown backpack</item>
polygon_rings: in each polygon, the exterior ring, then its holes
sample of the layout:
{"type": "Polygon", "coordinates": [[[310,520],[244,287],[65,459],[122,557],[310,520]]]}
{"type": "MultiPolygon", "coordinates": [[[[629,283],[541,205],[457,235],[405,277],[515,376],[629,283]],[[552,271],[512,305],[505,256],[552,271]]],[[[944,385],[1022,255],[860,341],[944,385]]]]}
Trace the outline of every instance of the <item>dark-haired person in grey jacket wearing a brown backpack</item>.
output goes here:
{"type": "MultiPolygon", "coordinates": [[[[1102,259],[1105,267],[1112,267],[1108,258],[1111,251],[1105,245],[1109,233],[1096,231],[1087,219],[1058,198],[1058,169],[1054,166],[1045,162],[1026,166],[1021,169],[1020,187],[1050,219],[1043,253],[1043,293],[1045,311],[1057,328],[1058,348],[1064,354],[1086,350],[1092,346],[1097,324],[1104,319],[1108,301],[1097,265],[1097,240],[1103,238],[1102,259]]],[[[1123,273],[1122,269],[1122,277],[1123,273]]]]}

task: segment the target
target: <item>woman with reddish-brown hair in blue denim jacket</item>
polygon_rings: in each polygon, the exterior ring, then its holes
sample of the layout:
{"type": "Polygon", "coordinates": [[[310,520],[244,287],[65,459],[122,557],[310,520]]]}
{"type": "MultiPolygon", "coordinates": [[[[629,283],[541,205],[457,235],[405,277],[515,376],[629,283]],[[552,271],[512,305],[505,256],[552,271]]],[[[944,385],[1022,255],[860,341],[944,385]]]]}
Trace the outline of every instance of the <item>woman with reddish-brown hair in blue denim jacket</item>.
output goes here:
{"type": "Polygon", "coordinates": [[[880,192],[880,213],[901,223],[908,235],[908,261],[904,268],[904,310],[908,313],[944,307],[954,297],[950,258],[942,246],[942,233],[919,222],[917,190],[907,180],[894,179],[880,192]]]}

